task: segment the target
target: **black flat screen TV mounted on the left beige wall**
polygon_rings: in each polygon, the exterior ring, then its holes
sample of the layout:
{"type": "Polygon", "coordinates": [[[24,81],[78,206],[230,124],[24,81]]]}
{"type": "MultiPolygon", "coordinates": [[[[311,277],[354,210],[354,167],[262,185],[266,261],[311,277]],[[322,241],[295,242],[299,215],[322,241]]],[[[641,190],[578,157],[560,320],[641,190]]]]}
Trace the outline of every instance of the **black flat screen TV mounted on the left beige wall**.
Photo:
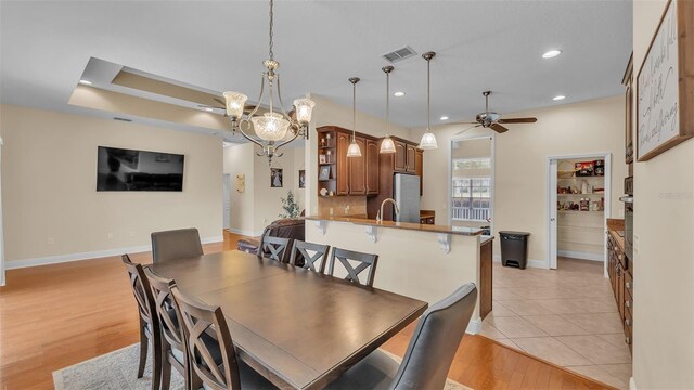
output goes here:
{"type": "Polygon", "coordinates": [[[99,146],[97,191],[183,191],[184,156],[99,146]]]}

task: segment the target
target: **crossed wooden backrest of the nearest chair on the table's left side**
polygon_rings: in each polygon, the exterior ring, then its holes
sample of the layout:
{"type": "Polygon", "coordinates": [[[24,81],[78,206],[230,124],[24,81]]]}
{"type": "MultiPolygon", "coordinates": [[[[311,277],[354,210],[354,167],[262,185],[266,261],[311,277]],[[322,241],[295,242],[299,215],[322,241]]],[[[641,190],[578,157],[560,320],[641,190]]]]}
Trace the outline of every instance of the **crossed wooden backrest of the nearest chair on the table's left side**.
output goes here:
{"type": "Polygon", "coordinates": [[[176,286],[171,287],[171,295],[183,322],[184,341],[188,347],[192,374],[213,389],[241,388],[236,352],[221,308],[210,307],[191,299],[181,294],[176,286]],[[214,336],[205,341],[203,339],[205,333],[213,333],[214,336]],[[209,339],[219,343],[222,358],[221,368],[208,349],[209,339]]]}

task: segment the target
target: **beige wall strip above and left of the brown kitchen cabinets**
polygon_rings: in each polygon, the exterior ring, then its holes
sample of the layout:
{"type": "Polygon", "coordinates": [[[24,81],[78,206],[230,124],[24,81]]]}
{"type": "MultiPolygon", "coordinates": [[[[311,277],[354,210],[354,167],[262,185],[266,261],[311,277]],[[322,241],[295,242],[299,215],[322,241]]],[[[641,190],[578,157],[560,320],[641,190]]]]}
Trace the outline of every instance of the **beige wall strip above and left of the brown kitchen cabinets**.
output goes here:
{"type": "MultiPolygon", "coordinates": [[[[316,128],[321,126],[334,125],[351,130],[352,108],[339,105],[320,95],[311,95],[310,98],[316,101],[316,108],[313,109],[310,138],[305,156],[307,167],[306,212],[316,214],[319,212],[319,197],[316,190],[316,182],[318,178],[318,158],[316,157],[318,155],[318,136],[316,135],[316,128]]],[[[357,103],[357,107],[359,107],[359,103],[357,103]]],[[[357,131],[378,138],[385,136],[386,121],[357,110],[357,131]]],[[[390,135],[397,135],[407,140],[413,140],[410,138],[411,133],[409,129],[396,126],[394,123],[390,123],[390,135]]],[[[416,139],[416,141],[419,141],[419,139],[416,139]]],[[[365,197],[362,198],[365,199],[365,197]]]]}

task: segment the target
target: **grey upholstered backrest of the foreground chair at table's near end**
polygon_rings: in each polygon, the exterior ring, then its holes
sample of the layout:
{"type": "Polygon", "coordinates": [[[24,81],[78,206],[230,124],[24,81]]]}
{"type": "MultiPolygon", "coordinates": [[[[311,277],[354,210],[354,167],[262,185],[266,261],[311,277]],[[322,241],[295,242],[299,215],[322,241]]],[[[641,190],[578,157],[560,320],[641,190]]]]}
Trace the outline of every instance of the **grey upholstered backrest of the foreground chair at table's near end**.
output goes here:
{"type": "Polygon", "coordinates": [[[477,303],[474,283],[430,306],[410,339],[390,389],[442,389],[477,303]]]}

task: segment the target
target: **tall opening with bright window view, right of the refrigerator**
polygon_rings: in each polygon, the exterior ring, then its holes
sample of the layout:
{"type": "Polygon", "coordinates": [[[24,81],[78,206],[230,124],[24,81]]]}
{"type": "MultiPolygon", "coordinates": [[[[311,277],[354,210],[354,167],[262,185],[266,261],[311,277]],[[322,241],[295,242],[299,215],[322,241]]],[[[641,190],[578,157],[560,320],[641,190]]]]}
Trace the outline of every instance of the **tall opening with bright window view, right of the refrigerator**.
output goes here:
{"type": "Polygon", "coordinates": [[[493,232],[494,135],[460,136],[449,150],[448,224],[493,232]]]}

